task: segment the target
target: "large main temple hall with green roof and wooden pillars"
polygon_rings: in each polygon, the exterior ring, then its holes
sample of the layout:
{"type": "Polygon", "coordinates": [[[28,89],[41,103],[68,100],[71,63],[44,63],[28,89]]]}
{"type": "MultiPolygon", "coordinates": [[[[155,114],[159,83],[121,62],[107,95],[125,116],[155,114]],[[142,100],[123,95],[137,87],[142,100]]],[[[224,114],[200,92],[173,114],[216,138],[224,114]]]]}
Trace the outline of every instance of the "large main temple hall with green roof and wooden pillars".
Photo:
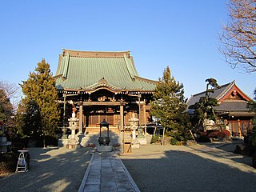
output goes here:
{"type": "Polygon", "coordinates": [[[62,50],[55,77],[62,122],[75,110],[80,133],[98,129],[103,119],[110,130],[122,130],[134,114],[140,125],[150,122],[157,81],[138,75],[130,51],[62,50]]]}

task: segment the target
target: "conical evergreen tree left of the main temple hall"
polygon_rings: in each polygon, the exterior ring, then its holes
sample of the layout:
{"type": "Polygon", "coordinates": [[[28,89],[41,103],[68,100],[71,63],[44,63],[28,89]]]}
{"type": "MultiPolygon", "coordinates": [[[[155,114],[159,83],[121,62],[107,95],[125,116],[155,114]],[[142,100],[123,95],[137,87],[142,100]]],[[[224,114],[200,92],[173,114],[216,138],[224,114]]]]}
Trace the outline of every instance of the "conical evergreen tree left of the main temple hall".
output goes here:
{"type": "Polygon", "coordinates": [[[26,108],[24,118],[26,134],[54,136],[60,115],[56,102],[58,92],[50,72],[50,65],[45,59],[38,62],[35,72],[30,73],[27,81],[23,82],[22,92],[25,95],[22,105],[26,108]]]}

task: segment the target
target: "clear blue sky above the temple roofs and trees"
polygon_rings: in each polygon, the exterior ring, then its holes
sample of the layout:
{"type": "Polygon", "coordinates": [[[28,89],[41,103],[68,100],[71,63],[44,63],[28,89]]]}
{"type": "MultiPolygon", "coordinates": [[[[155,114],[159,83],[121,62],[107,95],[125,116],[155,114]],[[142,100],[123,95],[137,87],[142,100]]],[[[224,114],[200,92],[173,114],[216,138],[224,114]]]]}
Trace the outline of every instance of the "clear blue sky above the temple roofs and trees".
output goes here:
{"type": "Polygon", "coordinates": [[[206,78],[235,80],[254,98],[255,74],[232,70],[218,52],[225,0],[10,0],[0,9],[0,80],[21,83],[41,58],[55,74],[62,48],[130,50],[143,78],[158,80],[170,66],[186,98],[206,78]]]}

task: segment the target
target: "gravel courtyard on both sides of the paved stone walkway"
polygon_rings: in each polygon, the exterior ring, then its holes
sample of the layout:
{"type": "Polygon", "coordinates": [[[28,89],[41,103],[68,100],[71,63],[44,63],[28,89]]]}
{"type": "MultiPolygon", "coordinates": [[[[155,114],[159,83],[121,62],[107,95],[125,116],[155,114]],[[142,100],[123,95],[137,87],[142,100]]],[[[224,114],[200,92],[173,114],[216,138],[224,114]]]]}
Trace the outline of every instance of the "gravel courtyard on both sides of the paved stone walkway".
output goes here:
{"type": "MultiPolygon", "coordinates": [[[[141,146],[121,155],[143,191],[256,191],[251,158],[231,153],[234,144],[141,146]]],[[[0,178],[1,192],[78,191],[89,149],[29,148],[30,170],[0,178]]]]}

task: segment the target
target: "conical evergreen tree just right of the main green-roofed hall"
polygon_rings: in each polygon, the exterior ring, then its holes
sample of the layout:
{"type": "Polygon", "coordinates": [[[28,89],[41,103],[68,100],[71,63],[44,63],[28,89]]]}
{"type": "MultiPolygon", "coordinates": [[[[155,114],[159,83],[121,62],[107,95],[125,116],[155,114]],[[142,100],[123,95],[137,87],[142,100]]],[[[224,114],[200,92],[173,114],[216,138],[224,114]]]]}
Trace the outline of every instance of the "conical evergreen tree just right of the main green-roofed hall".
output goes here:
{"type": "Polygon", "coordinates": [[[178,141],[190,139],[190,118],[186,113],[183,85],[170,74],[169,66],[154,90],[150,115],[166,127],[166,133],[178,141]]]}

